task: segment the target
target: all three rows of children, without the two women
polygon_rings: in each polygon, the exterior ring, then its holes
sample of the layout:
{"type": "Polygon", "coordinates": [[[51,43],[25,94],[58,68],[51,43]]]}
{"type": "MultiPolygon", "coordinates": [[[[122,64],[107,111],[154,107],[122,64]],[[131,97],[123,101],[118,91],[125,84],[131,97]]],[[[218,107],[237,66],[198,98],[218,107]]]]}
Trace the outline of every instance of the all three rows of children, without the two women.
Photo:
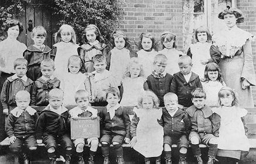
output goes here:
{"type": "MultiPolygon", "coordinates": [[[[197,29],[197,43],[187,55],[176,50],[175,37],[163,33],[163,50],[157,52],[152,34],[142,33],[140,50],[132,55],[128,37],[119,30],[112,34],[114,48],[107,52],[97,26],[86,27],[84,44],[79,47],[73,27],[62,25],[51,51],[43,44],[46,30],[35,27],[34,44],[24,52],[24,58],[15,60],[16,74],[5,81],[1,92],[4,113],[9,114],[6,132],[11,150],[21,153],[25,143],[31,152],[36,144],[44,143],[51,162],[56,163],[59,143],[65,150],[66,163],[70,163],[74,144],[78,163],[83,164],[87,142],[91,144],[88,163],[94,163],[98,138],[71,141],[69,121],[70,117],[76,120],[99,116],[104,164],[110,163],[110,144],[114,145],[117,163],[124,163],[124,142],[144,155],[145,163],[156,157],[157,164],[161,163],[162,151],[166,163],[172,163],[174,143],[179,146],[180,164],[186,163],[189,143],[199,164],[203,163],[201,142],[209,146],[207,164],[216,160],[217,148],[247,152],[248,144],[244,143],[248,141],[241,120],[247,111],[237,107],[234,91],[224,87],[217,65],[221,54],[208,42],[209,30],[197,29]],[[38,116],[29,104],[46,108],[38,116]],[[9,113],[9,106],[17,107],[9,113]],[[68,111],[65,106],[77,107],[68,111]],[[104,108],[97,111],[90,106],[104,108]],[[134,109],[131,121],[122,106],[139,108],[134,109]],[[187,107],[186,111],[183,107],[187,107]],[[239,131],[234,129],[234,124],[239,126],[239,131]]],[[[28,156],[26,153],[26,162],[28,156]]],[[[230,161],[237,162],[235,157],[230,161]]]]}

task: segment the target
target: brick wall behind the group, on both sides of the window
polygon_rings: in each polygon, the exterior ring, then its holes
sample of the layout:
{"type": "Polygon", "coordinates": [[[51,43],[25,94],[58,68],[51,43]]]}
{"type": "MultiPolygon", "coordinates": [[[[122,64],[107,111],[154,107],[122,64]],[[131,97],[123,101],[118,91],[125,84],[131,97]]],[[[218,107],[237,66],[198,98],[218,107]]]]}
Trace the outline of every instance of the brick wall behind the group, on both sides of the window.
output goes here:
{"type": "MultiPolygon", "coordinates": [[[[124,0],[124,20],[121,30],[134,41],[139,40],[142,32],[152,33],[159,37],[162,32],[169,31],[177,35],[178,49],[183,51],[182,5],[183,0],[124,0]]],[[[238,27],[256,35],[256,1],[236,0],[237,8],[244,12],[245,21],[238,27]]],[[[134,46],[135,48],[135,46],[134,46]]],[[[256,41],[252,42],[252,54],[256,69],[256,41]]],[[[256,104],[256,87],[253,88],[256,104]]]]}

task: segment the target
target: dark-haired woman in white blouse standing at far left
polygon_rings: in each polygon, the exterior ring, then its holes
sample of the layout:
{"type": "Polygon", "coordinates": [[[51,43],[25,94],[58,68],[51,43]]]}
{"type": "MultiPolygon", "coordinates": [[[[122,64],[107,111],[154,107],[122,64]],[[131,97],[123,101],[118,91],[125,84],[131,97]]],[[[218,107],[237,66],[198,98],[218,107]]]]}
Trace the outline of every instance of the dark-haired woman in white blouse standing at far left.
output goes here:
{"type": "MultiPolygon", "coordinates": [[[[7,33],[7,38],[0,42],[0,93],[6,79],[15,73],[13,62],[16,58],[23,58],[23,52],[27,48],[25,44],[17,40],[23,31],[19,20],[9,20],[2,26],[2,29],[7,33]]],[[[4,127],[5,116],[0,102],[0,142],[5,139],[4,127]]]]}

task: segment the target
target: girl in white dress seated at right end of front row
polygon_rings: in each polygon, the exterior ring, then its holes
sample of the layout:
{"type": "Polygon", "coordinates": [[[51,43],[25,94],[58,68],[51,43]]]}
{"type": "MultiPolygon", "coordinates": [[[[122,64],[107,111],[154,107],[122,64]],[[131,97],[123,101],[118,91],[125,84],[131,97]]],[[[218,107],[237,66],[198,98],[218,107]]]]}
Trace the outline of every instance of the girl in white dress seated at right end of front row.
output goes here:
{"type": "Polygon", "coordinates": [[[242,121],[247,110],[238,107],[237,96],[231,88],[221,88],[218,97],[220,107],[212,109],[220,120],[213,124],[214,135],[219,137],[217,159],[220,164],[236,163],[249,153],[250,144],[242,121]]]}

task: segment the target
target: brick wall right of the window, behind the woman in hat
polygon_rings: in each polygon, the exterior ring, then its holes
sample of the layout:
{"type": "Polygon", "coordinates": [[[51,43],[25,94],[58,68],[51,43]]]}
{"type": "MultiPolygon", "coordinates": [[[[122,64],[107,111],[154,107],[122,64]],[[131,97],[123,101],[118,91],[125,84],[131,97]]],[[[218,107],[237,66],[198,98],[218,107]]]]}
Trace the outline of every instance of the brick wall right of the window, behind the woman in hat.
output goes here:
{"type": "MultiPolygon", "coordinates": [[[[238,27],[246,30],[256,36],[256,1],[255,0],[237,0],[237,8],[244,13],[244,23],[239,23],[238,27]]],[[[254,58],[254,68],[256,69],[256,38],[251,43],[252,55],[254,58]]],[[[256,104],[256,87],[252,89],[254,95],[254,104],[256,104]]]]}

